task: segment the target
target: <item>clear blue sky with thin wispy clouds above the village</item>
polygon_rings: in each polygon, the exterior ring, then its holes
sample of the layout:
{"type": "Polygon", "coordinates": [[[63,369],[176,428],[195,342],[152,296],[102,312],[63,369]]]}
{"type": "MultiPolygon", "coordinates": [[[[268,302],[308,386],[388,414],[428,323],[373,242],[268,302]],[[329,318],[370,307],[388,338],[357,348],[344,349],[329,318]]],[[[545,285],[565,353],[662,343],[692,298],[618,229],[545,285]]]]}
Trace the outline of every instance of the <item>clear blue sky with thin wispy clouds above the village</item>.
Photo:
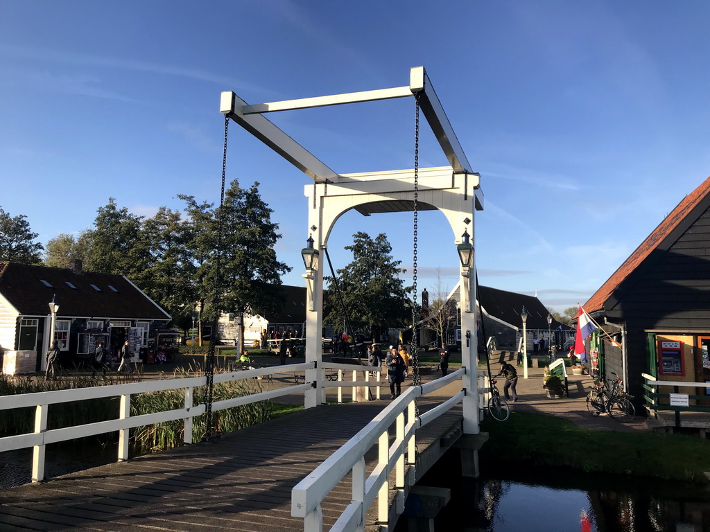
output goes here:
{"type": "MultiPolygon", "coordinates": [[[[423,65],[475,172],[481,284],[584,303],[710,174],[706,1],[0,0],[0,206],[38,240],[109,197],[152,216],[218,201],[219,94],[250,104],[408,85],[423,65]]],[[[413,99],[268,118],[339,173],[413,167],[413,99]]],[[[305,174],[230,126],[227,179],[261,183],[302,284],[305,174]]],[[[446,164],[427,130],[420,166],[446,164]]],[[[412,215],[386,232],[411,272],[412,215]]],[[[444,216],[420,213],[419,290],[457,282],[444,216]]]]}

